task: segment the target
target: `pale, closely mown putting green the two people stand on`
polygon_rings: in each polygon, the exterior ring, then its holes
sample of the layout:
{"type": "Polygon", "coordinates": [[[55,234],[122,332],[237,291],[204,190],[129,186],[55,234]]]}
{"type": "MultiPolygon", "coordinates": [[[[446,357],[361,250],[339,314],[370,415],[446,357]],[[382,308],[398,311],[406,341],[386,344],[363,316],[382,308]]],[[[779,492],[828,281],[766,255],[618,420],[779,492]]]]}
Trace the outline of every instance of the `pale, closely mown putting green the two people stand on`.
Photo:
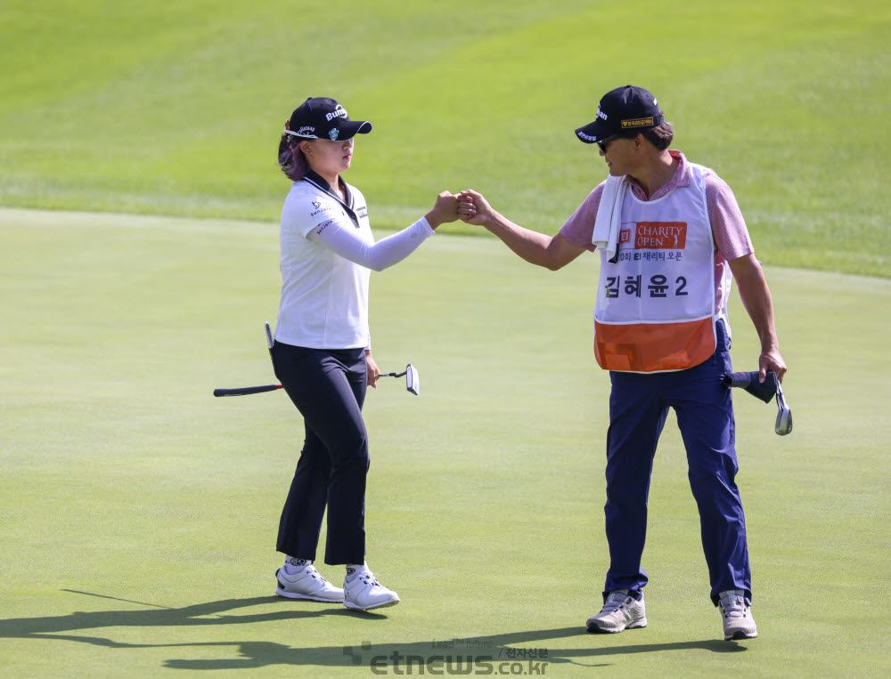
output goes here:
{"type": "MultiPolygon", "coordinates": [[[[718,641],[674,416],[650,494],[650,626],[600,636],[584,632],[608,563],[595,257],[551,273],[437,236],[372,274],[375,357],[412,362],[422,390],[366,401],[368,560],[403,602],[360,615],[271,595],[302,423],[282,392],[211,396],[273,379],[276,224],[0,222],[0,674],[372,675],[380,657],[396,674],[394,654],[528,672],[517,649],[549,676],[891,672],[887,279],[767,268],[795,430],[776,436],[773,404],[736,395],[760,638],[718,641]]],[[[731,319],[734,367],[753,369],[735,292],[731,319]]]]}

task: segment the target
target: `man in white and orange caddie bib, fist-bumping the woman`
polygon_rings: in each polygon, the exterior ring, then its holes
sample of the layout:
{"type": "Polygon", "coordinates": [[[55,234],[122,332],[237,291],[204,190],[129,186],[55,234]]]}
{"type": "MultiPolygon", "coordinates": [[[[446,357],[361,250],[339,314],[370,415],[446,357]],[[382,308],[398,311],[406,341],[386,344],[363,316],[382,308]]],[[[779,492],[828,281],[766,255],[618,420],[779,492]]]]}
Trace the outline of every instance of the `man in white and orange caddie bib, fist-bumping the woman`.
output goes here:
{"type": "Polygon", "coordinates": [[[585,250],[601,253],[594,354],[612,383],[605,506],[610,565],[604,606],[588,619],[588,631],[647,625],[641,558],[650,473],[668,408],[674,408],[724,638],[754,638],[746,522],[734,482],[731,391],[720,378],[731,371],[732,278],[761,339],[761,379],[768,370],[779,377],[786,372],[764,271],[730,187],[668,150],[672,126],[652,94],[632,85],[606,93],[594,121],[576,135],[598,145],[609,177],[556,236],[509,221],[472,190],[462,192],[459,214],[552,271],[585,250]]]}

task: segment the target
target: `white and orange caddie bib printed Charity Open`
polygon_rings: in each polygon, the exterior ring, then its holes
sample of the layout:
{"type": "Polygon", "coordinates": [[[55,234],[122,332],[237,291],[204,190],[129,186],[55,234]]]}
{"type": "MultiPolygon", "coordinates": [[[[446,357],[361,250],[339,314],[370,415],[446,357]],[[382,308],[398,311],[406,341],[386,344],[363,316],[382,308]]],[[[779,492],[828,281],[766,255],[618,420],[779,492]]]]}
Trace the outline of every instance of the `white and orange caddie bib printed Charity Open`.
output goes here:
{"type": "Polygon", "coordinates": [[[643,201],[629,190],[615,263],[601,250],[594,355],[601,368],[684,370],[715,352],[715,242],[706,167],[690,185],[643,201]]]}

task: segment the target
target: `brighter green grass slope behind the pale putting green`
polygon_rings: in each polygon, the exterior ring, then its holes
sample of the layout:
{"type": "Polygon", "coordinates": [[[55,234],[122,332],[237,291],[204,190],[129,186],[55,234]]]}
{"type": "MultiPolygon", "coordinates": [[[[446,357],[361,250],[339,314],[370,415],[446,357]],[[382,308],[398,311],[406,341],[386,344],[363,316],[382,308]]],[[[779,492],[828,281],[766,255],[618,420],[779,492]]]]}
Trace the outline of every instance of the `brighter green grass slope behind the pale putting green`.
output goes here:
{"type": "Polygon", "coordinates": [[[375,124],[348,179],[379,227],[473,186],[552,233],[605,175],[573,128],[634,82],[658,95],[674,145],[730,182],[764,262],[891,276],[887,3],[692,0],[644,18],[584,0],[351,0],[330,12],[5,2],[0,205],[274,219],[284,119],[326,93],[375,124]]]}

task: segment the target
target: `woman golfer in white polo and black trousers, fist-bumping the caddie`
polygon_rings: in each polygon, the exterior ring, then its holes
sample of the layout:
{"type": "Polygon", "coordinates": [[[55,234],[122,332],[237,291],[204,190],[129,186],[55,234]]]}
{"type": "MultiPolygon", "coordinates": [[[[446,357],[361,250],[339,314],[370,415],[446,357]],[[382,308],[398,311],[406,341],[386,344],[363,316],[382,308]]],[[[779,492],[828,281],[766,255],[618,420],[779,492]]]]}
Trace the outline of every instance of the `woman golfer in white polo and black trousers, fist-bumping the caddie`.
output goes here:
{"type": "Polygon", "coordinates": [[[293,182],[282,208],[282,302],[275,327],[275,375],[304,418],[306,441],[282,510],[275,594],[344,602],[370,610],[399,602],[365,563],[368,435],[362,405],[380,370],[368,333],[370,270],[400,262],[444,222],[458,218],[447,191],[407,229],[374,242],[365,198],[344,182],[356,133],[372,131],[337,101],[304,101],[285,124],[279,165],[293,182]],[[345,564],[343,589],[315,567],[328,507],[325,563],[345,564]]]}

